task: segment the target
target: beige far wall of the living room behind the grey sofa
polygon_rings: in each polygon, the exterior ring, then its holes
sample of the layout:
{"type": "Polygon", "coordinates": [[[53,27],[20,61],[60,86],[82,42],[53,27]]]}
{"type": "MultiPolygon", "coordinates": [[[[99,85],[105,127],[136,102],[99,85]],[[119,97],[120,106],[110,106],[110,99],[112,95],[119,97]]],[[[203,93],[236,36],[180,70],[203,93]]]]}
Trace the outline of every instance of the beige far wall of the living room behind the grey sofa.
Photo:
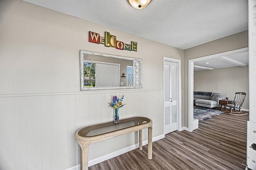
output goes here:
{"type": "Polygon", "coordinates": [[[245,92],[244,109],[249,109],[248,84],[248,66],[194,71],[194,91],[221,93],[231,100],[236,92],[245,92]]]}

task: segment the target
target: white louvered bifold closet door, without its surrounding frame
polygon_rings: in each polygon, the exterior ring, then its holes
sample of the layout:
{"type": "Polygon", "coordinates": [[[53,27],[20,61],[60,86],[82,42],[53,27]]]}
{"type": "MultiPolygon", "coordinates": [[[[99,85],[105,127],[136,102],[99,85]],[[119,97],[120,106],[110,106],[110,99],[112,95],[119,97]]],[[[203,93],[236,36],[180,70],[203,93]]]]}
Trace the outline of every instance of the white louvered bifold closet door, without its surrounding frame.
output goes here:
{"type": "Polygon", "coordinates": [[[177,63],[164,61],[164,134],[178,128],[178,71],[177,63]]]}

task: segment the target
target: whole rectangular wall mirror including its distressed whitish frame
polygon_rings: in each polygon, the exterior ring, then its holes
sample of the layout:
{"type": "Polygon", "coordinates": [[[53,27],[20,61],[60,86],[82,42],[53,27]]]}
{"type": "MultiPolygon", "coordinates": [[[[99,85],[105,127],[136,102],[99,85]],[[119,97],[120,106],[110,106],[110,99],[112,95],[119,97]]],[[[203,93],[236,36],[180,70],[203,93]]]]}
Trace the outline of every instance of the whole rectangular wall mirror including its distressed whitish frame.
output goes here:
{"type": "Polygon", "coordinates": [[[142,60],[80,51],[80,90],[142,88],[142,60]]]}

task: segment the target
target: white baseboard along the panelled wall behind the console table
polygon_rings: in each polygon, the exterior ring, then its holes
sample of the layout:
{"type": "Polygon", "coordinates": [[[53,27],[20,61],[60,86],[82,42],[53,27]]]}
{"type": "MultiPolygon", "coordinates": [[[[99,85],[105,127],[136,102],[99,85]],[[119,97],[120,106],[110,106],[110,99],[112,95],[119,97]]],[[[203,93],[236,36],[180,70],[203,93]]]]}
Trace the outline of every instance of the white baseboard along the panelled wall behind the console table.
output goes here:
{"type": "MultiPolygon", "coordinates": [[[[159,135],[159,136],[157,136],[157,137],[153,137],[152,141],[153,141],[153,142],[154,142],[154,141],[158,141],[159,139],[163,139],[164,137],[165,137],[165,135],[162,134],[162,135],[159,135]]],[[[147,145],[147,144],[148,144],[148,140],[142,142],[142,146],[147,145]]],[[[88,167],[89,167],[89,166],[92,166],[92,165],[95,165],[95,164],[98,164],[98,163],[100,163],[100,162],[103,162],[103,161],[105,161],[105,160],[108,160],[108,159],[110,159],[110,158],[114,158],[114,157],[116,157],[116,156],[118,156],[118,155],[120,155],[120,154],[124,154],[124,153],[129,152],[129,151],[131,151],[131,150],[134,150],[134,149],[136,149],[136,148],[138,148],[138,147],[139,147],[139,144],[135,144],[135,145],[132,145],[132,146],[130,146],[130,147],[126,147],[126,148],[124,148],[124,149],[117,150],[117,151],[112,152],[112,153],[110,153],[110,154],[106,154],[106,155],[104,155],[104,156],[100,156],[100,157],[98,157],[98,158],[96,158],[96,159],[93,159],[93,160],[88,161],[88,167]]],[[[145,158],[146,158],[146,157],[145,157],[145,158]]],[[[79,164],[79,165],[76,165],[76,166],[73,166],[73,167],[71,167],[71,168],[68,168],[68,169],[66,169],[66,170],[80,170],[80,164],[79,164]]]]}

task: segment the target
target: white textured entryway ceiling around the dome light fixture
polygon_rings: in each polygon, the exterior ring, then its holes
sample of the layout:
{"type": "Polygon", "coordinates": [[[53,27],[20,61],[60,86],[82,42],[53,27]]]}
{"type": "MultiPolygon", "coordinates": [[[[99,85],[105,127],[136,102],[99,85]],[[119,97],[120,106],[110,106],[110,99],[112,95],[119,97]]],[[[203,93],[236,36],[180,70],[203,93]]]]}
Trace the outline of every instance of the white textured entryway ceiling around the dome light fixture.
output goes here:
{"type": "Polygon", "coordinates": [[[248,0],[24,0],[64,14],[188,49],[248,29],[248,0]]]}

